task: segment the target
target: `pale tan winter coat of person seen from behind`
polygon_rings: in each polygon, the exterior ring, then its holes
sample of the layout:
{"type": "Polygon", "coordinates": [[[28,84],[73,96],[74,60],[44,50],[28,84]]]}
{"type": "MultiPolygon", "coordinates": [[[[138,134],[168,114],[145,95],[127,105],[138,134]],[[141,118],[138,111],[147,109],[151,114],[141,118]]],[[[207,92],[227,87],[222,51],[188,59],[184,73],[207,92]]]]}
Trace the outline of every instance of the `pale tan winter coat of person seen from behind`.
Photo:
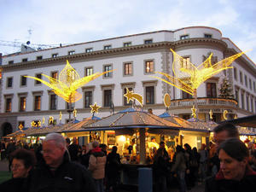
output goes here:
{"type": "Polygon", "coordinates": [[[89,167],[91,175],[95,179],[101,179],[105,177],[105,165],[107,157],[102,152],[101,148],[94,148],[91,151],[89,159],[89,167]]]}

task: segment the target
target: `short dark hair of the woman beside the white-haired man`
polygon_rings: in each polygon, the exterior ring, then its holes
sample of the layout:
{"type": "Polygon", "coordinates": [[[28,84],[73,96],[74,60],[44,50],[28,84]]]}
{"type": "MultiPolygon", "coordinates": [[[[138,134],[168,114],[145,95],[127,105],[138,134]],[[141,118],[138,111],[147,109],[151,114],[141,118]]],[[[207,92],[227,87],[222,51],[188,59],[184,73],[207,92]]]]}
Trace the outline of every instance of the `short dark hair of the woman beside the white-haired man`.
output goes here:
{"type": "Polygon", "coordinates": [[[11,160],[23,160],[24,166],[29,168],[30,166],[35,166],[37,159],[34,152],[26,150],[25,148],[18,148],[11,154],[11,160]]]}

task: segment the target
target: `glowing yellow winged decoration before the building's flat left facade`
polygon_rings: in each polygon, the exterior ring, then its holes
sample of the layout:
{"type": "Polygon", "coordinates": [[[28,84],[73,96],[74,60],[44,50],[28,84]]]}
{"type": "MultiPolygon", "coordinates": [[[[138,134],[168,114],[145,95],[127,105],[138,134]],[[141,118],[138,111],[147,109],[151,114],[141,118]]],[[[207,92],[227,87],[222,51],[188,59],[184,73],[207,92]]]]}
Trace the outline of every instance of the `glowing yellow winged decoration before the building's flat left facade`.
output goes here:
{"type": "MultiPolygon", "coordinates": [[[[113,71],[113,70],[112,70],[113,71]]],[[[84,84],[89,83],[91,80],[102,76],[105,73],[110,73],[112,71],[107,71],[103,73],[94,73],[90,76],[80,78],[79,73],[71,67],[67,61],[66,67],[61,71],[59,79],[51,78],[48,75],[42,74],[45,78],[49,79],[49,82],[43,79],[38,79],[32,76],[25,76],[26,78],[31,78],[42,82],[43,84],[49,86],[53,89],[57,96],[61,96],[66,102],[77,102],[82,98],[82,95],[77,91],[84,84]]]]}

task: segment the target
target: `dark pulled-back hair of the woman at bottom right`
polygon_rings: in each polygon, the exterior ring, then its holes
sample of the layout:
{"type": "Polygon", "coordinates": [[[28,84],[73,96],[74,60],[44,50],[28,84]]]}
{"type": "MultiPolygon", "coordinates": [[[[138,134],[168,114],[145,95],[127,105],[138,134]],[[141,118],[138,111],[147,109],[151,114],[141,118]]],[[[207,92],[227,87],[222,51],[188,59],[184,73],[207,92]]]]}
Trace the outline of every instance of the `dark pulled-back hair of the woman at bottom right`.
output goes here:
{"type": "Polygon", "coordinates": [[[223,149],[226,154],[238,161],[244,160],[249,156],[247,146],[238,138],[229,138],[225,140],[219,145],[218,152],[220,149],[223,149]]]}

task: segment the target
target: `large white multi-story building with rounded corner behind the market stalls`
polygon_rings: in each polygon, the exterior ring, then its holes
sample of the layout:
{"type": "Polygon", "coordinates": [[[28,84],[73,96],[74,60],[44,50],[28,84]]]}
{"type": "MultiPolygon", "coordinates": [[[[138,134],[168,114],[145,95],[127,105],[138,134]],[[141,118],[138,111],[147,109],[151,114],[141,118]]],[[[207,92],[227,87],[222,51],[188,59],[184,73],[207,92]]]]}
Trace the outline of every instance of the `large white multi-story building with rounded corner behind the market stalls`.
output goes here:
{"type": "MultiPolygon", "coordinates": [[[[43,73],[58,78],[68,60],[80,77],[92,73],[106,73],[102,77],[84,84],[78,91],[83,98],[73,103],[78,120],[90,117],[90,105],[102,106],[98,117],[108,116],[113,103],[115,112],[131,106],[123,96],[126,87],[143,96],[143,110],[164,113],[163,98],[166,93],[172,98],[169,113],[188,119],[193,98],[159,79],[154,72],[172,75],[173,55],[170,48],[196,66],[205,61],[211,53],[212,62],[221,61],[241,50],[229,38],[212,27],[193,26],[175,31],[146,32],[117,38],[108,38],[82,44],[60,46],[53,49],[22,51],[3,55],[1,84],[0,136],[18,129],[20,124],[31,126],[31,122],[54,117],[59,123],[68,119],[67,102],[56,96],[50,88],[29,75],[44,79],[43,73]]],[[[198,117],[215,121],[223,119],[224,110],[228,119],[251,115],[256,112],[256,66],[247,55],[241,55],[232,63],[234,68],[218,73],[198,88],[198,117]],[[228,79],[235,99],[219,97],[223,79],[228,79]]],[[[46,79],[44,79],[46,80],[46,79]]]]}

